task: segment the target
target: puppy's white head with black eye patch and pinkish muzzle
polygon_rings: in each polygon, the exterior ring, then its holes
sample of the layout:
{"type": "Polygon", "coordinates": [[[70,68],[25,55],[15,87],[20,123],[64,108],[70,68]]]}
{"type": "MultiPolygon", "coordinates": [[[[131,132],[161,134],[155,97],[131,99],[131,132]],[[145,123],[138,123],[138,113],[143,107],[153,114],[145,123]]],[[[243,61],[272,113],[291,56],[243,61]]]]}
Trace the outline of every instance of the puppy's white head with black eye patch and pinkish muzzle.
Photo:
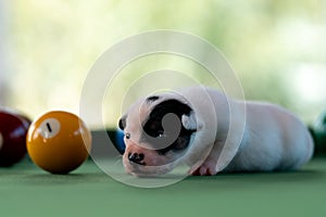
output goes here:
{"type": "Polygon", "coordinates": [[[189,149],[197,130],[193,110],[177,93],[139,100],[118,126],[125,133],[124,167],[139,177],[171,171],[189,149]]]}

